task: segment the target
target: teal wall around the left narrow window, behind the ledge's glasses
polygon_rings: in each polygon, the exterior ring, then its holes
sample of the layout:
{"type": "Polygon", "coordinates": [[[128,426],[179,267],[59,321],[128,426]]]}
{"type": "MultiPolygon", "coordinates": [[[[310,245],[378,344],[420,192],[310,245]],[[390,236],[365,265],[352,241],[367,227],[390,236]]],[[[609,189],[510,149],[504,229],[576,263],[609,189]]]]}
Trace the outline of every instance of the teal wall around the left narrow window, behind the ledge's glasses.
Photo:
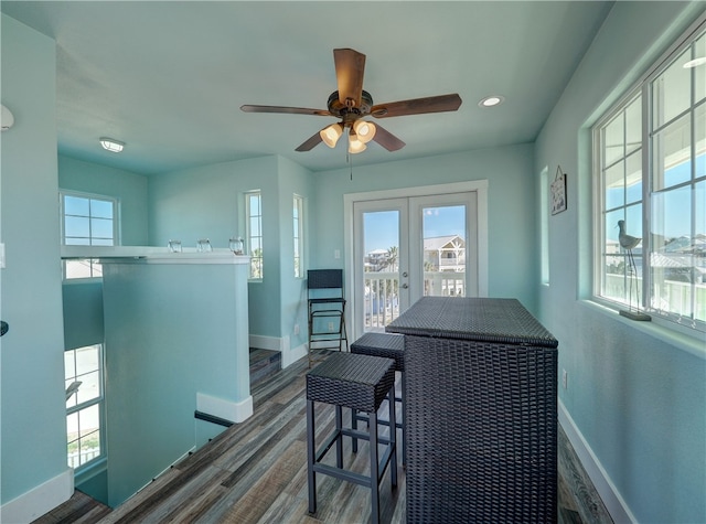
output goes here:
{"type": "Polygon", "coordinates": [[[248,297],[250,333],[264,336],[282,336],[284,308],[272,307],[272,297],[280,297],[281,267],[288,258],[280,250],[293,249],[280,239],[280,235],[291,239],[292,231],[291,226],[280,229],[286,216],[291,221],[291,205],[280,207],[281,203],[291,202],[291,194],[287,196],[280,188],[287,173],[300,181],[287,182],[290,190],[301,185],[302,192],[308,191],[306,170],[278,157],[204,165],[152,177],[149,181],[149,239],[152,245],[164,246],[170,238],[178,238],[182,246],[192,247],[197,238],[206,237],[214,247],[228,247],[232,236],[245,237],[244,193],[261,191],[265,278],[249,284],[248,297]],[[286,165],[281,175],[280,162],[286,165]]]}

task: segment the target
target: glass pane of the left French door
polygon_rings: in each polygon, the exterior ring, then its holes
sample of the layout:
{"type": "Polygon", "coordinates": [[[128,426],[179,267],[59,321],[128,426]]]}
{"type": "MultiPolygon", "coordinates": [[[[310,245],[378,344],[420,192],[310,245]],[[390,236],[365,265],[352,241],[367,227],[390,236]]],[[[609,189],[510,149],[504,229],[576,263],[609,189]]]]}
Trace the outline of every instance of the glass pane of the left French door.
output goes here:
{"type": "Polygon", "coordinates": [[[399,212],[363,213],[365,331],[399,317],[399,212]]]}

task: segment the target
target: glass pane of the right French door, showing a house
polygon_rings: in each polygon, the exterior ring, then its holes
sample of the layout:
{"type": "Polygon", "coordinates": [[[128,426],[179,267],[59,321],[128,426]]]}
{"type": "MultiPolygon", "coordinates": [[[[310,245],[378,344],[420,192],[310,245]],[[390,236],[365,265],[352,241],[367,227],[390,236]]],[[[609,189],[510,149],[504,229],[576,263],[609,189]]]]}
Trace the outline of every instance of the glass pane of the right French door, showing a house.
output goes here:
{"type": "Polygon", "coordinates": [[[466,297],[466,206],[422,208],[424,296],[466,297]]]}

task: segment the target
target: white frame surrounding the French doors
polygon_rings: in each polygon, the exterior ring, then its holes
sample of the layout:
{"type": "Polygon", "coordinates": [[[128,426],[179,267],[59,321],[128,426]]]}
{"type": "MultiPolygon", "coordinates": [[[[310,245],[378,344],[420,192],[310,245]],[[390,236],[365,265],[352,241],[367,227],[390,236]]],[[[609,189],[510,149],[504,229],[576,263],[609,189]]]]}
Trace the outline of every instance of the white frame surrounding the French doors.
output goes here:
{"type": "Polygon", "coordinates": [[[488,180],[471,180],[450,184],[420,185],[395,190],[370,191],[365,193],[346,193],[343,195],[343,242],[345,246],[345,295],[346,325],[349,333],[357,332],[354,323],[355,296],[353,293],[353,270],[355,267],[353,248],[353,203],[370,200],[386,200],[397,197],[431,196],[449,193],[475,192],[478,196],[478,296],[488,297],[488,180]]]}

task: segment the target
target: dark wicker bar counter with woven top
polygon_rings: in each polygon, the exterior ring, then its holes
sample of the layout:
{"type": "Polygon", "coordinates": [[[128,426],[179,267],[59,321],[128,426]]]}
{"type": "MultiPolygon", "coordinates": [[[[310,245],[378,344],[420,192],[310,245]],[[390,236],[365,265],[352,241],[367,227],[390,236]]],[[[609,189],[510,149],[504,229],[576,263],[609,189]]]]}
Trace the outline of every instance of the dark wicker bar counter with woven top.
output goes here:
{"type": "Polygon", "coordinates": [[[556,522],[557,345],[514,299],[425,297],[405,335],[407,522],[556,522]]]}

